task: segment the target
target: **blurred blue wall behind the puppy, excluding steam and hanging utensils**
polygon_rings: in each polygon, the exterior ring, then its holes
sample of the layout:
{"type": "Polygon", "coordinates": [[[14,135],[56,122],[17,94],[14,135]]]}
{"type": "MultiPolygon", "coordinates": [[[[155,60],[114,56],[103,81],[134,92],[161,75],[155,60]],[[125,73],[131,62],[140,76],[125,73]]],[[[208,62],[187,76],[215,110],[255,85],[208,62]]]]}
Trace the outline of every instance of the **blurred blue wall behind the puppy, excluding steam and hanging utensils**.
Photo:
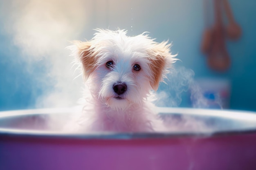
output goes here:
{"type": "MultiPolygon", "coordinates": [[[[5,2],[0,0],[2,11],[3,8],[10,7],[5,2]]],[[[90,17],[85,23],[81,18],[79,22],[84,29],[79,29],[73,38],[77,39],[79,34],[81,40],[90,39],[92,29],[97,27],[128,29],[129,35],[149,31],[150,36],[157,38],[159,42],[168,39],[173,42],[173,53],[178,53],[182,60],[179,64],[192,69],[195,78],[229,79],[231,109],[256,110],[256,1],[230,0],[235,19],[243,29],[243,35],[237,42],[227,41],[232,64],[225,73],[210,70],[206,64],[206,57],[200,52],[204,31],[202,2],[202,0],[131,0],[129,2],[108,0],[104,1],[104,4],[100,0],[90,1],[84,7],[90,17]]],[[[0,12],[1,25],[10,24],[7,22],[10,14],[0,12]]],[[[38,80],[38,77],[45,77],[47,74],[45,65],[36,62],[30,68],[34,71],[28,73],[25,69],[27,62],[20,60],[20,48],[13,42],[12,33],[7,33],[1,27],[0,110],[33,108],[37,97],[44,93],[46,88],[51,88],[51,84],[40,85],[38,80]]]]}

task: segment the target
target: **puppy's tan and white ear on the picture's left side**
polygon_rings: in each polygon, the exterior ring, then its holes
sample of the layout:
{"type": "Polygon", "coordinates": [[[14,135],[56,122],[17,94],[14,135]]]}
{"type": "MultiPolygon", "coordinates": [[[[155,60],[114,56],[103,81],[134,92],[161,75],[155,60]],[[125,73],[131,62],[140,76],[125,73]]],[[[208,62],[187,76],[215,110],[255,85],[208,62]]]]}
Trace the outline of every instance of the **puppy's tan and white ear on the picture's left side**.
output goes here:
{"type": "Polygon", "coordinates": [[[72,43],[74,45],[70,46],[69,49],[72,51],[72,55],[76,57],[76,60],[81,62],[84,78],[87,79],[96,68],[97,62],[95,53],[91,47],[91,42],[73,41],[72,43]]]}

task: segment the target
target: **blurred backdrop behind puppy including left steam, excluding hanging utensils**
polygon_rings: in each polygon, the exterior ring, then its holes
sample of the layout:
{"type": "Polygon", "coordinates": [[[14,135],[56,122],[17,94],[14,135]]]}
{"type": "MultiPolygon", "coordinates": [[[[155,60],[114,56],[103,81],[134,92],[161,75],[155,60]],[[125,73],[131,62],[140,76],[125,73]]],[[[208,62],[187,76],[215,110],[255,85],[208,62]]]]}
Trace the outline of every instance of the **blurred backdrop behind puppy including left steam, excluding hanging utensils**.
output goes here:
{"type": "MultiPolygon", "coordinates": [[[[0,110],[74,106],[82,77],[74,79],[79,73],[65,47],[70,40],[90,40],[95,28],[120,28],[172,42],[179,74],[197,82],[212,108],[221,99],[222,108],[255,111],[256,1],[229,4],[242,34],[224,39],[231,64],[216,71],[201,50],[204,31],[216,22],[212,0],[0,0],[0,110]]],[[[182,90],[172,106],[193,107],[191,93],[182,90]]]]}

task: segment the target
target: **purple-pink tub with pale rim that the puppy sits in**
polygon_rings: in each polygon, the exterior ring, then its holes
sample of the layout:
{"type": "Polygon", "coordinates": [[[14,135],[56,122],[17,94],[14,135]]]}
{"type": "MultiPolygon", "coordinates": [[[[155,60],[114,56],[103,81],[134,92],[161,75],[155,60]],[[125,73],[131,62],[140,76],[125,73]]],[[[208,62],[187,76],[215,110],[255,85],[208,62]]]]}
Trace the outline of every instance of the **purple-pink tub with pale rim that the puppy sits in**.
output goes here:
{"type": "Polygon", "coordinates": [[[71,111],[0,112],[0,170],[256,170],[253,112],[159,108],[186,126],[168,133],[68,134],[45,126],[49,115],[71,111]],[[190,120],[200,126],[187,126],[190,120]]]}

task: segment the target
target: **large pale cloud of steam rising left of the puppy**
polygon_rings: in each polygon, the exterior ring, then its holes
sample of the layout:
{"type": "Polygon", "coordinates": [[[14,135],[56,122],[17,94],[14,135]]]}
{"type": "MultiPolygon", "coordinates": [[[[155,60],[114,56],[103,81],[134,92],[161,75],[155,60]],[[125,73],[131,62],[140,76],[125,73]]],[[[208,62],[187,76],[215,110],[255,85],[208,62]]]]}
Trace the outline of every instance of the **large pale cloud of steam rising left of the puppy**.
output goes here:
{"type": "Polygon", "coordinates": [[[20,49],[20,58],[16,60],[26,61],[28,73],[35,64],[44,65],[48,79],[35,79],[41,86],[54,85],[38,98],[37,107],[70,106],[80,97],[81,79],[73,80],[73,59],[65,47],[68,40],[78,39],[78,33],[85,29],[81,24],[88,22],[85,7],[83,0],[11,0],[1,5],[1,16],[7,17],[2,19],[4,30],[20,49]]]}

